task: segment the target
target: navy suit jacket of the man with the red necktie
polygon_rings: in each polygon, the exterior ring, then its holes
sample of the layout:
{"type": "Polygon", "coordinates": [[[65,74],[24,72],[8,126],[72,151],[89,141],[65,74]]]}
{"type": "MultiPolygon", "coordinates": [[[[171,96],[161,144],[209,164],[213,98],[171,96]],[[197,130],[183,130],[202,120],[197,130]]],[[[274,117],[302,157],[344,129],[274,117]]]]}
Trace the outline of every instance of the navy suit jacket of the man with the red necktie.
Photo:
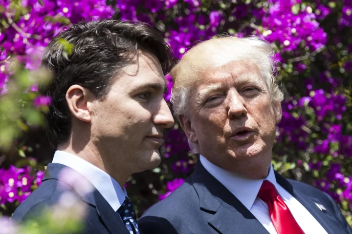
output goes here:
{"type": "MultiPolygon", "coordinates": [[[[278,173],[275,176],[329,234],[352,234],[329,195],[278,173]],[[315,203],[323,205],[326,211],[315,203]]],[[[138,223],[144,234],[268,234],[255,216],[199,161],[194,173],[174,193],[148,209],[138,223]]]]}

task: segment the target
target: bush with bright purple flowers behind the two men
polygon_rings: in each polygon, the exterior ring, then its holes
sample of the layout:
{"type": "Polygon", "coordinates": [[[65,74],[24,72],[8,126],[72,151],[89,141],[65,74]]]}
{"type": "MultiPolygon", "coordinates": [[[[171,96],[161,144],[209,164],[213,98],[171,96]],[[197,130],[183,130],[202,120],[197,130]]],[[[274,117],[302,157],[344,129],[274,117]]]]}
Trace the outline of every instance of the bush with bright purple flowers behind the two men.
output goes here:
{"type": "MultiPolygon", "coordinates": [[[[277,77],[285,94],[274,168],[330,194],[352,223],[352,38],[347,36],[352,34],[352,0],[0,3],[2,213],[11,214],[35,189],[29,185],[38,185],[42,175],[31,174],[35,171],[30,166],[11,165],[25,156],[36,157],[45,165],[53,155],[40,131],[42,121],[38,120],[50,99],[40,96],[37,83],[43,80],[31,78],[36,76],[29,71],[38,67],[44,46],[63,27],[84,18],[112,17],[154,25],[178,59],[199,41],[220,33],[268,40],[276,51],[277,77]]],[[[168,76],[167,83],[169,93],[165,98],[169,100],[173,83],[168,76]]],[[[126,184],[137,215],[174,191],[192,172],[196,161],[177,123],[161,152],[164,159],[158,168],[133,175],[126,184]]]]}

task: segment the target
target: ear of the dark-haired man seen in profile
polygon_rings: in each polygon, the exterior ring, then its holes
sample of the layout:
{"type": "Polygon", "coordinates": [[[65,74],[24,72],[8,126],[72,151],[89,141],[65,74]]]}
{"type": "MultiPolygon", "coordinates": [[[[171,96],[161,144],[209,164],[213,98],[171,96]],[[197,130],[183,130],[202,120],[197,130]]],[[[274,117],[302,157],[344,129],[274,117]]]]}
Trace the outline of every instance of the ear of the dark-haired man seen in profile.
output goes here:
{"type": "Polygon", "coordinates": [[[69,87],[66,92],[66,101],[72,116],[85,122],[91,121],[91,100],[91,92],[77,84],[69,87]]]}

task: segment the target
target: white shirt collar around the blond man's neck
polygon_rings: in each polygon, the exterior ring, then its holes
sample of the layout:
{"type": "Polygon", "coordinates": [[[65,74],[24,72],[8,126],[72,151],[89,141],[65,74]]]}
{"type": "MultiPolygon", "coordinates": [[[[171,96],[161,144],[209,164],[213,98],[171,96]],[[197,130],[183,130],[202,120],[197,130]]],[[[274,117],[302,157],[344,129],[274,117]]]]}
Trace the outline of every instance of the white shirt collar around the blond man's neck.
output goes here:
{"type": "MultiPolygon", "coordinates": [[[[202,155],[199,156],[199,160],[210,175],[214,176],[227,190],[236,196],[248,210],[252,208],[264,179],[249,179],[226,171],[214,165],[202,155]]],[[[269,174],[265,179],[277,187],[272,165],[270,165],[269,174]]]]}

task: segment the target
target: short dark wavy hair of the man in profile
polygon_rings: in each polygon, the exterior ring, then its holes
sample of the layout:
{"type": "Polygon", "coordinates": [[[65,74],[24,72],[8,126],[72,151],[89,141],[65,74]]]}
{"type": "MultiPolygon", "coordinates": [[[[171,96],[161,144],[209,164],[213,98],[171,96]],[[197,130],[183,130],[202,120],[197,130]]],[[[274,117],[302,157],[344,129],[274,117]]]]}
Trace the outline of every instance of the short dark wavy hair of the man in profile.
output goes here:
{"type": "Polygon", "coordinates": [[[175,60],[170,46],[157,30],[136,21],[96,20],[79,22],[61,31],[46,47],[42,67],[53,75],[46,87],[52,98],[45,115],[46,131],[53,147],[68,140],[71,113],[66,92],[74,84],[87,88],[97,98],[104,98],[113,77],[136,55],[138,49],[154,54],[164,75],[175,60]],[[66,43],[73,47],[71,51],[66,43]]]}

